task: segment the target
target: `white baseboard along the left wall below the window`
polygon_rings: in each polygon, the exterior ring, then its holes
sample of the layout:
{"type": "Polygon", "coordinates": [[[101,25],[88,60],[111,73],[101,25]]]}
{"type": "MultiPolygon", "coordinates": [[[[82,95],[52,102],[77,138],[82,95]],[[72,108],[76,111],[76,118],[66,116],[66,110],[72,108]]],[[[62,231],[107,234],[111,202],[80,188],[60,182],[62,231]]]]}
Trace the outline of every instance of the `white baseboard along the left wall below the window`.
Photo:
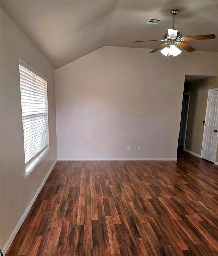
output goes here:
{"type": "Polygon", "coordinates": [[[36,191],[36,193],[35,193],[33,199],[31,200],[30,204],[28,205],[26,211],[24,212],[24,214],[23,214],[22,217],[20,218],[20,220],[19,220],[19,222],[18,222],[16,228],[14,229],[14,231],[12,232],[12,234],[11,234],[9,240],[6,242],[4,248],[2,249],[3,255],[6,254],[6,252],[7,252],[7,250],[9,249],[11,243],[13,242],[13,240],[14,240],[14,238],[15,238],[17,232],[19,231],[21,225],[23,224],[25,218],[27,217],[27,214],[29,213],[31,207],[33,206],[33,203],[35,202],[35,200],[36,200],[38,194],[40,193],[42,187],[44,186],[44,184],[45,184],[45,182],[46,182],[46,180],[47,180],[49,174],[51,173],[53,167],[55,166],[56,162],[57,162],[57,159],[56,159],[55,162],[52,164],[52,166],[51,166],[50,170],[48,171],[48,173],[46,174],[46,176],[45,176],[45,178],[44,178],[42,184],[40,185],[40,187],[39,187],[38,190],[36,191]]]}

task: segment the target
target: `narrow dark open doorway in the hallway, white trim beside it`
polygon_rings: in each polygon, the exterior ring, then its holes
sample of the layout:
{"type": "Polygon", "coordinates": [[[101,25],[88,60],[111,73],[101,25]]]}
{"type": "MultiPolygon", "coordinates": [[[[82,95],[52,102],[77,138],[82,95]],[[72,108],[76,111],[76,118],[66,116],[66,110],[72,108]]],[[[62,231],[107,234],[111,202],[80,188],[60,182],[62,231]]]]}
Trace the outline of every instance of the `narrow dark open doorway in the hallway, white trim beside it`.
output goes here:
{"type": "Polygon", "coordinates": [[[186,130],[187,130],[189,101],[190,101],[190,92],[184,93],[183,94],[183,102],[182,102],[180,133],[179,133],[179,137],[178,137],[177,154],[182,154],[183,150],[185,148],[185,137],[186,137],[186,130]]]}

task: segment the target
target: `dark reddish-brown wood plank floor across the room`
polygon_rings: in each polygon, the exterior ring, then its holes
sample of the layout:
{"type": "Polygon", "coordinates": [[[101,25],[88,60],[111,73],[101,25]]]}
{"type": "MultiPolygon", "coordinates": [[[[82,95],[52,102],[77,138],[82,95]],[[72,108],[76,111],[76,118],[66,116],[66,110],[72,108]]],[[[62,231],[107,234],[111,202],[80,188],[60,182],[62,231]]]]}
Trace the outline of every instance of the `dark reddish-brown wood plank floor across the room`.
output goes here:
{"type": "Polygon", "coordinates": [[[58,161],[6,256],[218,255],[218,166],[58,161]]]}

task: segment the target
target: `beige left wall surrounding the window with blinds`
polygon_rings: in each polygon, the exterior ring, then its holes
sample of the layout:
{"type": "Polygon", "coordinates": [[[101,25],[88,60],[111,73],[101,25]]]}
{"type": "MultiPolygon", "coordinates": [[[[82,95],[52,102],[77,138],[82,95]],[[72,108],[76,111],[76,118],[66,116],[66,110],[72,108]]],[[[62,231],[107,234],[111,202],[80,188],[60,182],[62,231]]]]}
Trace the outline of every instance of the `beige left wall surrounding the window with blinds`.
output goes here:
{"type": "Polygon", "coordinates": [[[11,18],[1,10],[1,224],[3,249],[56,160],[54,69],[11,18]],[[19,58],[48,78],[49,143],[52,150],[25,179],[19,58]]]}

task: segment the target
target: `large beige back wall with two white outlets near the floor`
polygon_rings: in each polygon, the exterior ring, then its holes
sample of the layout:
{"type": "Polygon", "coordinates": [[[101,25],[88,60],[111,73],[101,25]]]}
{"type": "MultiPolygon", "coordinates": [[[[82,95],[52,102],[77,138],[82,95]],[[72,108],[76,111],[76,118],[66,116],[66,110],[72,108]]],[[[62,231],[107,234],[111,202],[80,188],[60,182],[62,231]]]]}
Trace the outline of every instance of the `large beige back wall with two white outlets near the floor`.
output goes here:
{"type": "Polygon", "coordinates": [[[55,71],[59,159],[176,158],[185,74],[217,75],[218,53],[149,51],[105,46],[55,71]]]}

